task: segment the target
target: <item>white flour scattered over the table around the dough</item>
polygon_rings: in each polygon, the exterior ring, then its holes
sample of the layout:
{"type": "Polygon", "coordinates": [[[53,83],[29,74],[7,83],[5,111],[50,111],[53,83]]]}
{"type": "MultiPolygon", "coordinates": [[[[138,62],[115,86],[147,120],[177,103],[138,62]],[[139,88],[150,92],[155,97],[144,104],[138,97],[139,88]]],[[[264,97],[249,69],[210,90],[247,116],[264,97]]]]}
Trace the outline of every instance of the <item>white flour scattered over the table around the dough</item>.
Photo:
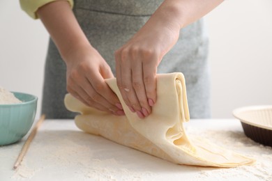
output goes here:
{"type": "MultiPolygon", "coordinates": [[[[189,169],[180,166],[180,170],[175,169],[172,174],[179,175],[181,180],[184,177],[183,173],[186,173],[183,169],[195,172],[196,175],[190,180],[228,181],[229,178],[236,178],[237,180],[245,180],[246,178],[247,181],[272,180],[271,147],[255,143],[248,139],[243,131],[202,130],[194,127],[188,127],[187,131],[192,137],[202,136],[203,139],[209,139],[212,143],[252,157],[256,159],[256,162],[250,166],[238,166],[236,168],[190,166],[189,169]]],[[[105,150],[105,147],[103,147],[105,143],[107,143],[107,140],[103,138],[82,132],[68,130],[40,131],[31,143],[31,148],[24,157],[22,164],[15,171],[12,180],[36,180],[38,175],[43,175],[45,180],[52,180],[52,178],[54,178],[53,180],[71,180],[73,178],[83,181],[160,180],[160,174],[169,173],[169,169],[166,169],[168,165],[166,162],[163,169],[156,170],[155,166],[149,162],[146,162],[149,166],[143,166],[143,169],[139,169],[141,165],[128,165],[126,155],[107,156],[109,152],[114,150],[114,152],[118,152],[122,146],[118,145],[113,150],[105,150]],[[99,146],[100,143],[101,146],[99,146]],[[51,178],[45,173],[50,173],[51,178]],[[67,175],[67,173],[69,174],[67,175]]],[[[133,158],[129,160],[137,164],[144,163],[144,161],[137,162],[139,157],[133,158]]],[[[152,161],[154,160],[152,159],[152,161]]],[[[163,164],[163,162],[156,163],[163,164]]],[[[173,168],[176,167],[179,166],[173,164],[173,168]]]]}

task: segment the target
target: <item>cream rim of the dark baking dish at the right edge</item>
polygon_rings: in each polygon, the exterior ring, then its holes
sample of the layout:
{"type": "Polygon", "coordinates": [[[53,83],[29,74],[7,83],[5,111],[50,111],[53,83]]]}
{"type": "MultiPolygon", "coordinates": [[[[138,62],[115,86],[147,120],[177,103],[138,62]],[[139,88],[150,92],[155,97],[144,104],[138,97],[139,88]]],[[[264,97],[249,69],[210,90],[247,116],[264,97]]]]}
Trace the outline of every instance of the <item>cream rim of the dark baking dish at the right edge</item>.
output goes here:
{"type": "Polygon", "coordinates": [[[239,119],[242,123],[252,125],[252,126],[255,126],[255,127],[261,127],[263,129],[272,130],[272,126],[252,123],[251,121],[244,120],[243,118],[239,117],[239,113],[241,113],[241,112],[244,112],[244,111],[257,111],[257,110],[262,110],[262,109],[272,109],[272,105],[257,105],[257,106],[239,107],[237,109],[234,109],[234,111],[232,111],[232,114],[233,114],[233,116],[235,118],[239,119]]]}

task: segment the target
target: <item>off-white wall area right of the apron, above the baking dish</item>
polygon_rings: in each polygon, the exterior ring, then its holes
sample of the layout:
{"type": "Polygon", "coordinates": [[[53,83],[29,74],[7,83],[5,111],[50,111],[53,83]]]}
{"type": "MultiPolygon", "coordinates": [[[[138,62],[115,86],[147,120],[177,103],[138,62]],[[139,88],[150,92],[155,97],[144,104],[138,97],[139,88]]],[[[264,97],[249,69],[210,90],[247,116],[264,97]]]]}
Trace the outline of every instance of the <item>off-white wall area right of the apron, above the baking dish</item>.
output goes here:
{"type": "Polygon", "coordinates": [[[228,0],[206,16],[213,118],[272,104],[272,1],[228,0]]]}

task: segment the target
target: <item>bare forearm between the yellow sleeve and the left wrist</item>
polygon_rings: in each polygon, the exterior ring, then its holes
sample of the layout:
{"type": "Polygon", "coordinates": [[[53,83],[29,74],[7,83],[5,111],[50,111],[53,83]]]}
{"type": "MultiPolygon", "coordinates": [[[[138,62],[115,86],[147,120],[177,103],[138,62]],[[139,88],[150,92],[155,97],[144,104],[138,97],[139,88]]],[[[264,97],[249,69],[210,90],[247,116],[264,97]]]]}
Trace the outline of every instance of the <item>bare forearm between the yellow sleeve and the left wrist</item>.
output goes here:
{"type": "Polygon", "coordinates": [[[66,60],[71,51],[91,46],[67,1],[47,3],[37,14],[63,59],[66,60]]]}

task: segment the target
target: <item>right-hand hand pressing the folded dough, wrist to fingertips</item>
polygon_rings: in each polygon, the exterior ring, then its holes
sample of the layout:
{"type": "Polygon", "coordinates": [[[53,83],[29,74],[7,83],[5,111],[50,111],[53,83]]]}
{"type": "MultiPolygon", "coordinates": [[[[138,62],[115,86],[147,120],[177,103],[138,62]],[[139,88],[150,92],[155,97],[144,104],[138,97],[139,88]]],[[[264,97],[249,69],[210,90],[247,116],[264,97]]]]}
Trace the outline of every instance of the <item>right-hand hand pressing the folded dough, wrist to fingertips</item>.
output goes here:
{"type": "Polygon", "coordinates": [[[126,45],[115,52],[116,79],[124,102],[139,118],[156,103],[156,72],[179,38],[179,26],[154,14],[126,45]]]}

